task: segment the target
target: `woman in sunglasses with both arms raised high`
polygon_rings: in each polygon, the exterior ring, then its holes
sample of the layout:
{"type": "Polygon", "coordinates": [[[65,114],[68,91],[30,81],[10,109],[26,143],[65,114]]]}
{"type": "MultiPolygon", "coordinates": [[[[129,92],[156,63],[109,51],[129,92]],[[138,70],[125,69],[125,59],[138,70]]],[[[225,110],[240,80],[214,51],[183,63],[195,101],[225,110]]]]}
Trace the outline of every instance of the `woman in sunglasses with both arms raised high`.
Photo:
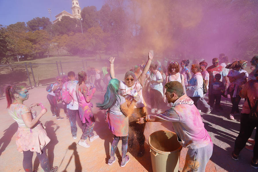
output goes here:
{"type": "MultiPolygon", "coordinates": [[[[138,92],[138,95],[141,98],[141,102],[137,102],[134,106],[134,112],[129,116],[129,136],[128,136],[128,145],[129,148],[132,148],[133,146],[133,140],[134,140],[134,134],[136,135],[136,139],[139,142],[140,145],[140,150],[138,152],[138,157],[142,157],[144,154],[144,141],[145,141],[145,136],[144,136],[144,126],[141,126],[140,124],[137,124],[137,119],[146,116],[146,109],[145,105],[146,103],[144,102],[144,99],[142,97],[142,87],[144,86],[145,79],[146,79],[146,73],[149,70],[151,61],[153,60],[153,56],[151,52],[148,53],[148,61],[146,62],[146,65],[142,71],[142,74],[139,76],[138,79],[136,79],[135,75],[133,72],[128,71],[126,72],[124,76],[124,81],[120,81],[120,95],[122,95],[126,101],[128,106],[132,102],[132,94],[131,94],[131,89],[135,89],[138,92]]],[[[110,77],[112,79],[115,79],[115,71],[114,71],[114,61],[115,57],[110,57],[109,62],[110,62],[110,77]]]]}

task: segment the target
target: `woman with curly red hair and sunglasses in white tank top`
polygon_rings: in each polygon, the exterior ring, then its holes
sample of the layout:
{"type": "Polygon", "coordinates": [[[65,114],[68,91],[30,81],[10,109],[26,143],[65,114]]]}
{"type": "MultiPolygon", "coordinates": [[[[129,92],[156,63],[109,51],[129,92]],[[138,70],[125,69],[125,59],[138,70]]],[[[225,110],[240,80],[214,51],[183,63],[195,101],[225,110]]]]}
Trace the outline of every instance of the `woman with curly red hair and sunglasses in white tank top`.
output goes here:
{"type": "MultiPolygon", "coordinates": [[[[167,68],[167,71],[168,71],[168,75],[166,76],[165,83],[168,83],[170,81],[178,81],[179,83],[182,84],[184,94],[185,94],[185,78],[184,78],[183,74],[179,73],[179,64],[177,62],[170,62],[169,66],[167,68]]],[[[163,97],[163,100],[165,103],[167,101],[166,96],[165,96],[166,91],[167,91],[167,89],[165,88],[164,89],[164,97],[163,97]]]]}

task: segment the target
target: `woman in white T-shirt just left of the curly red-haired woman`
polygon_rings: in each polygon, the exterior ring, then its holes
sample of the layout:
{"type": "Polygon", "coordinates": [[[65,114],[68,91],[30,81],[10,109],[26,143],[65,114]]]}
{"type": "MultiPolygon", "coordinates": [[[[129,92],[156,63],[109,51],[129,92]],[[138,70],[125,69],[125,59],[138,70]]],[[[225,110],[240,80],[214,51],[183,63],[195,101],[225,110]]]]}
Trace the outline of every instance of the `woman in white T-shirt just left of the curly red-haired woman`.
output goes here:
{"type": "Polygon", "coordinates": [[[157,64],[150,64],[150,104],[151,113],[155,113],[154,104],[157,105],[157,114],[161,113],[160,104],[164,97],[163,95],[163,77],[157,70],[157,64]]]}

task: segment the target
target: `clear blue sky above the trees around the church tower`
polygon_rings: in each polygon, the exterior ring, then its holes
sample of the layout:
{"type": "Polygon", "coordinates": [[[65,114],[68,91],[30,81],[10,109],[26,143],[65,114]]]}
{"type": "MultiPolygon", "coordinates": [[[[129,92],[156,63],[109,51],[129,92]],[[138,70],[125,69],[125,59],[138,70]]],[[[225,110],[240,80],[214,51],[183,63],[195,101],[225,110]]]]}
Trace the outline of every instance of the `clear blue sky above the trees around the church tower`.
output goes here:
{"type": "MultiPolygon", "coordinates": [[[[83,7],[95,6],[100,10],[105,0],[79,0],[83,7]]],[[[48,8],[51,9],[52,20],[63,10],[72,13],[72,0],[0,0],[0,24],[8,26],[18,21],[25,23],[35,17],[48,17],[48,8]]],[[[50,19],[51,21],[51,19],[50,19]]]]}

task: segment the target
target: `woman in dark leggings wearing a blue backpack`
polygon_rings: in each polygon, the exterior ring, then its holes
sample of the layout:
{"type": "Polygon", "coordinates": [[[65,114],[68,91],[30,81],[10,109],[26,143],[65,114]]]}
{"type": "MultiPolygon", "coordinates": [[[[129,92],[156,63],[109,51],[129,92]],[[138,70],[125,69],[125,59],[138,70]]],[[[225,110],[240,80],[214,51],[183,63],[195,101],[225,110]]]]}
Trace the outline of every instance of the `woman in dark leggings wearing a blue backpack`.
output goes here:
{"type": "Polygon", "coordinates": [[[48,93],[48,95],[47,95],[47,99],[50,103],[50,110],[52,112],[52,117],[56,117],[56,120],[64,119],[63,117],[60,117],[60,115],[59,115],[59,111],[58,111],[58,107],[57,107],[57,97],[56,97],[56,94],[58,94],[57,92],[61,91],[62,86],[63,86],[62,78],[56,77],[56,82],[52,86],[52,91],[50,93],[48,93]]]}

